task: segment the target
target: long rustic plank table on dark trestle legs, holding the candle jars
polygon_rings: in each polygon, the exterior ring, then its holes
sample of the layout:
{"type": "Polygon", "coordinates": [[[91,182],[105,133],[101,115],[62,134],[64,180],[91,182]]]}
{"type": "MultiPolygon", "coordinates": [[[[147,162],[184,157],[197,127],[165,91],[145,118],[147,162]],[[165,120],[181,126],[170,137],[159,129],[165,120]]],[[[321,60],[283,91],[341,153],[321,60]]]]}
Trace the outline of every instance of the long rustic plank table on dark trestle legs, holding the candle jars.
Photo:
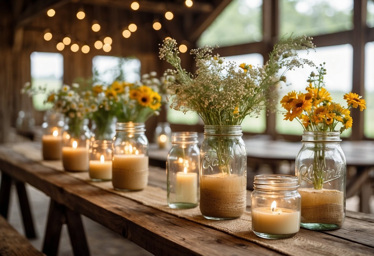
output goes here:
{"type": "MultiPolygon", "coordinates": [[[[32,146],[34,150],[40,150],[38,144],[32,146]]],[[[53,255],[53,249],[57,247],[58,238],[53,235],[59,234],[62,219],[68,224],[74,253],[89,253],[88,247],[84,246],[86,239],[81,232],[80,214],[155,255],[284,255],[279,252],[278,245],[288,243],[302,248],[298,255],[374,255],[374,215],[347,212],[343,227],[337,230],[317,232],[300,229],[297,237],[290,240],[267,240],[254,236],[258,240],[249,241],[145,206],[31,161],[15,152],[12,145],[0,145],[0,168],[3,177],[27,182],[51,198],[43,248],[47,255],[53,255]],[[52,212],[57,216],[52,216],[52,212]],[[264,242],[268,245],[260,245],[264,242]],[[316,247],[316,244],[319,246],[316,247]]],[[[149,184],[165,188],[165,170],[150,167],[149,184]]],[[[220,222],[215,224],[220,225],[220,222]]]]}

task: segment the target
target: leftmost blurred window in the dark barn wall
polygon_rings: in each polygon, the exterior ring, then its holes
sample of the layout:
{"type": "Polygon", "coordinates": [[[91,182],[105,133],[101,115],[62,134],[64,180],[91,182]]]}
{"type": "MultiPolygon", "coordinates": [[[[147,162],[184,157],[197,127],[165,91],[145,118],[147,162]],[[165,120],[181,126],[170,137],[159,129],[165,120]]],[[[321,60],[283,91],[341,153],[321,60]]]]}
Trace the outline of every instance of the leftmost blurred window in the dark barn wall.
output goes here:
{"type": "Polygon", "coordinates": [[[52,104],[44,104],[47,94],[58,90],[63,81],[64,58],[61,53],[46,53],[34,51],[30,55],[31,86],[46,88],[45,94],[33,96],[34,108],[38,111],[50,109],[52,104]]]}

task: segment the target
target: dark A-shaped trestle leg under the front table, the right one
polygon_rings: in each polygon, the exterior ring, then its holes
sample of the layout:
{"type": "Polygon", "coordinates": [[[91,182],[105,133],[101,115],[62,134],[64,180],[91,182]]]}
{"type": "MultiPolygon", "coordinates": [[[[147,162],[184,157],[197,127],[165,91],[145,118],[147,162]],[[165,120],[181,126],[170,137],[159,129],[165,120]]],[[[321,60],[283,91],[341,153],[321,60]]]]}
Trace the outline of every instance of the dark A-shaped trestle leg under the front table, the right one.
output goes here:
{"type": "Polygon", "coordinates": [[[67,224],[74,255],[90,255],[80,215],[55,200],[50,201],[43,253],[55,256],[58,252],[62,224],[67,224]]]}

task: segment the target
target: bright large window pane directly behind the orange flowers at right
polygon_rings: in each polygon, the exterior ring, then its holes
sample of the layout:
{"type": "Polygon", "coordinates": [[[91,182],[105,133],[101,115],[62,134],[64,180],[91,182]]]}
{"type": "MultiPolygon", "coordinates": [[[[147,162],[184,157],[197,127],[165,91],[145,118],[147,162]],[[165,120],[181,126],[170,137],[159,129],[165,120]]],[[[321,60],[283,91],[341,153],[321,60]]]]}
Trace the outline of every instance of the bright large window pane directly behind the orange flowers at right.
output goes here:
{"type": "MultiPolygon", "coordinates": [[[[310,51],[307,55],[305,51],[301,51],[299,55],[300,57],[312,60],[317,66],[326,62],[327,75],[324,78],[325,88],[331,94],[334,102],[347,106],[347,102],[343,99],[343,96],[352,91],[352,46],[350,44],[343,44],[339,46],[318,47],[316,48],[316,52],[310,51]]],[[[303,69],[296,69],[286,73],[287,84],[289,85],[283,85],[282,88],[279,88],[278,109],[284,110],[279,101],[289,91],[305,91],[308,85],[306,80],[310,72],[315,70],[315,67],[306,66],[303,69]]],[[[299,122],[296,120],[290,122],[289,120],[283,120],[283,118],[281,113],[276,114],[276,131],[278,133],[301,135],[303,127],[299,122]]],[[[355,120],[353,120],[353,125],[355,125],[355,120]]],[[[349,137],[351,132],[352,129],[344,131],[342,137],[349,137]]]]}

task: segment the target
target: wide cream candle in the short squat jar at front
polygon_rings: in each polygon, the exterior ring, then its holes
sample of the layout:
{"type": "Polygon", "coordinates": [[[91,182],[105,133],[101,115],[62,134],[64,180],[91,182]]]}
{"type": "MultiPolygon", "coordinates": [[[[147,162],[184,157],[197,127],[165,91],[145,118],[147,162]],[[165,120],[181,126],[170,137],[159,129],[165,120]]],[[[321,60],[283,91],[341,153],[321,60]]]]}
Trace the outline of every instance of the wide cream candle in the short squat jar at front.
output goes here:
{"type": "Polygon", "coordinates": [[[255,232],[273,235],[295,234],[300,230],[300,211],[271,207],[252,209],[252,229],[255,232]]]}

